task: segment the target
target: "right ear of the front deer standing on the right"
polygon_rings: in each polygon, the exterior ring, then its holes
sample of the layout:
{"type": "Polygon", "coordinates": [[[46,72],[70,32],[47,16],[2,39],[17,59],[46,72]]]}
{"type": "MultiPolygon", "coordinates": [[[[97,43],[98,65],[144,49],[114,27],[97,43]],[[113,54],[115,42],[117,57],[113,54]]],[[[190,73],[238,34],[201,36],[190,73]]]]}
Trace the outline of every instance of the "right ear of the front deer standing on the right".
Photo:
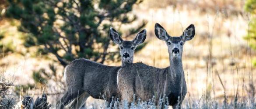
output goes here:
{"type": "Polygon", "coordinates": [[[183,41],[189,41],[193,39],[195,36],[195,26],[193,24],[190,24],[189,27],[186,28],[186,30],[182,34],[182,40],[183,41]]]}

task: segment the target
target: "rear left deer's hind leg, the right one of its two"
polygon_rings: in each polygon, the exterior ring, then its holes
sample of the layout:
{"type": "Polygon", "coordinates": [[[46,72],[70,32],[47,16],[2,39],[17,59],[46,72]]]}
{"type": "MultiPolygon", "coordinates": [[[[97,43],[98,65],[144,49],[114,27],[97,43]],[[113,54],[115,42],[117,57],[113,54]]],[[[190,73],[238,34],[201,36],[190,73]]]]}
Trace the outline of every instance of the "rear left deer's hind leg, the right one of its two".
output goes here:
{"type": "Polygon", "coordinates": [[[89,96],[90,95],[87,92],[84,92],[66,107],[69,107],[70,109],[80,109],[85,104],[85,101],[88,99],[89,96]]]}

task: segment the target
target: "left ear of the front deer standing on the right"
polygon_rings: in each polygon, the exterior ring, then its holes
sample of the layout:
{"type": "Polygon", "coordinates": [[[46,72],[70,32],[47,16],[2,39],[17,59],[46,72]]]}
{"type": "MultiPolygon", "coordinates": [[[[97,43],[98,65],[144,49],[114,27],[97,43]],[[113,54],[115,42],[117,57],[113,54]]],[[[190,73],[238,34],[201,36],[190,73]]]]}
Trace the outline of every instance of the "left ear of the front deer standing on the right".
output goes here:
{"type": "Polygon", "coordinates": [[[158,37],[158,39],[163,41],[166,41],[169,38],[167,32],[165,31],[165,28],[158,23],[154,25],[154,34],[156,35],[156,37],[158,37]]]}

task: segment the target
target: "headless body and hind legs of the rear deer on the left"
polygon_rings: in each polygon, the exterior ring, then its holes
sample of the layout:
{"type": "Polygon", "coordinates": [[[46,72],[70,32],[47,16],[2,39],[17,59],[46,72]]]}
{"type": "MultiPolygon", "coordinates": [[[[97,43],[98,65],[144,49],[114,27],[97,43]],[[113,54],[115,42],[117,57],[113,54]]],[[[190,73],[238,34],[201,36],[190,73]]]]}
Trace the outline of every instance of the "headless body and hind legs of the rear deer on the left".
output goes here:
{"type": "MultiPolygon", "coordinates": [[[[80,58],[71,62],[65,68],[67,92],[63,95],[60,109],[73,101],[68,107],[81,108],[86,99],[91,96],[95,99],[111,100],[117,98],[116,76],[119,67],[107,66],[88,59],[80,58]]],[[[58,106],[58,104],[57,104],[58,106]]]]}

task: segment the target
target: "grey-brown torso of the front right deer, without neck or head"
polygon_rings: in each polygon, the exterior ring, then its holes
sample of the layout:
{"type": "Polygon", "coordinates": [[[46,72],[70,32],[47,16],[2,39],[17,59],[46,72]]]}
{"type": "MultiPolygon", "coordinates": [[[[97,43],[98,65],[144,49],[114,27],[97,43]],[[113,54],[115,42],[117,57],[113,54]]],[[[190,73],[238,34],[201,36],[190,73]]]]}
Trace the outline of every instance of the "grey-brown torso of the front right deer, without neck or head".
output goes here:
{"type": "MultiPolygon", "coordinates": [[[[165,97],[169,98],[169,104],[174,105],[177,103],[178,96],[182,96],[180,99],[184,99],[186,95],[186,81],[185,78],[182,78],[182,75],[184,75],[183,72],[175,74],[175,71],[171,71],[170,67],[155,68],[143,63],[126,65],[118,74],[119,90],[122,93],[123,99],[130,98],[130,96],[135,93],[138,98],[144,101],[152,99],[154,95],[156,97],[155,101],[158,102],[163,95],[166,95],[165,97]],[[123,73],[123,71],[127,71],[128,69],[132,70],[123,73]],[[131,77],[131,75],[133,76],[131,77]],[[128,90],[128,92],[131,91],[130,93],[126,93],[125,91],[127,91],[127,89],[121,86],[127,84],[133,84],[132,87],[134,87],[134,89],[128,90]]],[[[133,98],[127,100],[131,102],[133,98]]]]}

